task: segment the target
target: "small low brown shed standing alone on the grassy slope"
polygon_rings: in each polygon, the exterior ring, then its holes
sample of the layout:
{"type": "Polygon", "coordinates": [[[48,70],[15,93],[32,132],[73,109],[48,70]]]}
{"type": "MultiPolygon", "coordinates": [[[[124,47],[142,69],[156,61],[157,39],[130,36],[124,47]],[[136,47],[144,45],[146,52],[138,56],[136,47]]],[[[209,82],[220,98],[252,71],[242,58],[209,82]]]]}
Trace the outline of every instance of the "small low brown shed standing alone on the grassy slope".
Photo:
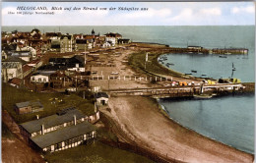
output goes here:
{"type": "Polygon", "coordinates": [[[17,114],[27,114],[43,111],[42,104],[38,101],[26,101],[15,104],[15,111],[17,114]]]}

